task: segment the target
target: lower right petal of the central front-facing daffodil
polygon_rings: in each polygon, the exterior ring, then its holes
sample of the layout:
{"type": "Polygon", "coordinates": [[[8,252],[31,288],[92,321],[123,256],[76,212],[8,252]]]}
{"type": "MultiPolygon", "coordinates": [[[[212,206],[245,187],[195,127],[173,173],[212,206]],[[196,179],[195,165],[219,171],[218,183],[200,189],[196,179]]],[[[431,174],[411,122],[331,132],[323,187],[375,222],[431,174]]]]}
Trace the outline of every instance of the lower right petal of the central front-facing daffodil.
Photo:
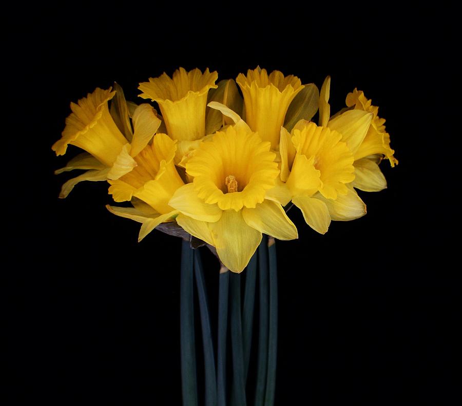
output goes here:
{"type": "Polygon", "coordinates": [[[287,217],[281,205],[274,201],[264,200],[255,209],[244,207],[242,217],[248,226],[260,231],[260,233],[271,235],[280,240],[298,238],[294,223],[287,217]]]}

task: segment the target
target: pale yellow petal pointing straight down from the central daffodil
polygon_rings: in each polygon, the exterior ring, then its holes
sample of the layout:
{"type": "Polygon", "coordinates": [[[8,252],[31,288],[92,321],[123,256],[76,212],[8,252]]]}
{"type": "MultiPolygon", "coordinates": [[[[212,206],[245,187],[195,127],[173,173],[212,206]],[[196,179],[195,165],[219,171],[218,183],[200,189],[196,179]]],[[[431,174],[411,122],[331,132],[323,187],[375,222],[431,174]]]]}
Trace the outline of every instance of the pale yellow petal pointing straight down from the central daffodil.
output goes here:
{"type": "Polygon", "coordinates": [[[261,242],[261,233],[249,227],[241,211],[225,210],[215,223],[209,223],[214,246],[223,265],[242,272],[261,242]]]}

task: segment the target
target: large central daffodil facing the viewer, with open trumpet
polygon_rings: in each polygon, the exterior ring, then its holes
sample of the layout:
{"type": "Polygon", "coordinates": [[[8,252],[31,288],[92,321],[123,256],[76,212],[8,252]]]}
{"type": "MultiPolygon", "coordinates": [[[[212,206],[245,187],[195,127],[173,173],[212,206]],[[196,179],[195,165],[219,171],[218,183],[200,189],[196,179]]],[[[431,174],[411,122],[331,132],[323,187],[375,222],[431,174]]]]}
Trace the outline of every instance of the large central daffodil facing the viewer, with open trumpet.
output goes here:
{"type": "Polygon", "coordinates": [[[233,272],[245,268],[262,233],[284,240],[298,237],[279,202],[266,197],[279,174],[276,154],[269,142],[240,123],[200,145],[186,164],[194,181],[168,203],[180,212],[177,223],[214,246],[233,272]]]}

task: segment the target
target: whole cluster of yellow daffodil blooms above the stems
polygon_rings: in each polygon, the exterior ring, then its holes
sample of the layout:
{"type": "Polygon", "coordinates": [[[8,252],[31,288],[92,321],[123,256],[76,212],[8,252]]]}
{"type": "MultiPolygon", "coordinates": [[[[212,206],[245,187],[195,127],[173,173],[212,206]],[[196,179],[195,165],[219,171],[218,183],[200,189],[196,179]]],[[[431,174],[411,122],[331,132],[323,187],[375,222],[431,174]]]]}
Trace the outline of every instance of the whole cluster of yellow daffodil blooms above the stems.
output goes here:
{"type": "Polygon", "coordinates": [[[176,222],[241,272],[262,233],[298,237],[283,208],[289,202],[324,234],[331,220],[366,213],[355,188],[387,187],[378,163],[397,160],[384,119],[363,92],[349,93],[347,108],[331,117],[329,77],[320,92],[296,76],[260,68],[236,82],[216,84],[217,78],[208,69],[183,68],[149,78],[140,97],[157,102],[159,113],[126,101],[117,84],[72,103],[52,149],[63,155],[70,144],[86,152],[56,173],[86,172],[67,181],[60,197],[82,180],[106,180],[114,201],[132,205],[107,208],[140,222],[139,240],[176,222]]]}

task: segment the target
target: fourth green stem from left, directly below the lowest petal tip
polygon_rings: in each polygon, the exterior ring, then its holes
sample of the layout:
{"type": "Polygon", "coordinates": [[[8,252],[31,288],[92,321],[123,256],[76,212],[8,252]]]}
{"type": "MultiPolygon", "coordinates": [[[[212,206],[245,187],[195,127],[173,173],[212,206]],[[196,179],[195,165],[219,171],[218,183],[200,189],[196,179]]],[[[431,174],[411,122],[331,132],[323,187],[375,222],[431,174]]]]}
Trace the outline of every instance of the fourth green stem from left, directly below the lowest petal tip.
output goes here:
{"type": "Polygon", "coordinates": [[[245,406],[244,354],[242,353],[241,275],[231,278],[231,343],[233,350],[232,404],[245,406]]]}

